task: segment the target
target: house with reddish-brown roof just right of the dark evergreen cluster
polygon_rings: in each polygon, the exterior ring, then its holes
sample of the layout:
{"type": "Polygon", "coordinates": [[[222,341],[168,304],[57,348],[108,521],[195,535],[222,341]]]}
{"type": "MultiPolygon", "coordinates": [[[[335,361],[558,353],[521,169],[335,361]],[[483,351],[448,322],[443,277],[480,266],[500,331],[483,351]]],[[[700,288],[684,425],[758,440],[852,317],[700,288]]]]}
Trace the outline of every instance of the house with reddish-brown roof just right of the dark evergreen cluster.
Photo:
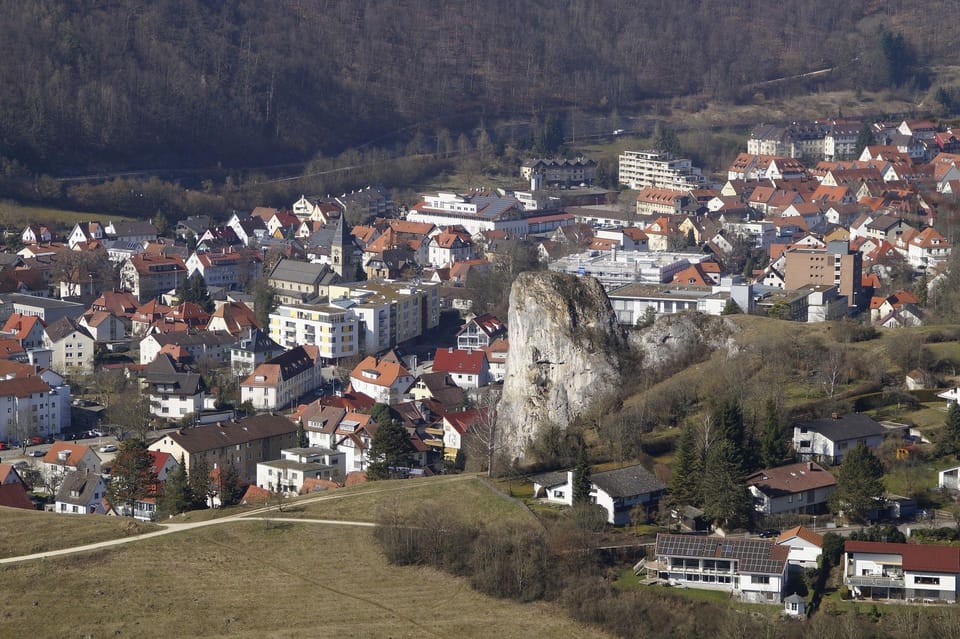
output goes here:
{"type": "Polygon", "coordinates": [[[764,515],[825,512],[827,500],[837,488],[834,476],[814,462],[757,471],[747,477],[746,484],[754,508],[764,515]]]}

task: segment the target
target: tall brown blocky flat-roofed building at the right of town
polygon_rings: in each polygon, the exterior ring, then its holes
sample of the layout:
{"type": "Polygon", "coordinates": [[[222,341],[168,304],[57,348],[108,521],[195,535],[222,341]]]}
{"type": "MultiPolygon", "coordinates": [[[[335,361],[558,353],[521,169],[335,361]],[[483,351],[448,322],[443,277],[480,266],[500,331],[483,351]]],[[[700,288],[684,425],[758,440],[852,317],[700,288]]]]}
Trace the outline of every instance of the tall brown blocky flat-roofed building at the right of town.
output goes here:
{"type": "Polygon", "coordinates": [[[849,242],[829,242],[826,248],[795,247],[784,253],[787,289],[810,285],[836,286],[850,307],[866,303],[863,296],[863,255],[849,242]]]}

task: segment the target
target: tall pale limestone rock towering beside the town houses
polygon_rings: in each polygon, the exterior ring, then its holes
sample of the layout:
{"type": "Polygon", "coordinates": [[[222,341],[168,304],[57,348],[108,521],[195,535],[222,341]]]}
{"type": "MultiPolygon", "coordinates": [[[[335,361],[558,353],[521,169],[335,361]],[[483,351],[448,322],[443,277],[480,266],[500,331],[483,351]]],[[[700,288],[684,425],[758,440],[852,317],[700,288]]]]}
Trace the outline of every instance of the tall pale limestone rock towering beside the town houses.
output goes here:
{"type": "Polygon", "coordinates": [[[511,458],[545,424],[566,427],[617,389],[628,345],[603,287],[590,277],[522,273],[510,290],[510,352],[498,427],[511,458]]]}

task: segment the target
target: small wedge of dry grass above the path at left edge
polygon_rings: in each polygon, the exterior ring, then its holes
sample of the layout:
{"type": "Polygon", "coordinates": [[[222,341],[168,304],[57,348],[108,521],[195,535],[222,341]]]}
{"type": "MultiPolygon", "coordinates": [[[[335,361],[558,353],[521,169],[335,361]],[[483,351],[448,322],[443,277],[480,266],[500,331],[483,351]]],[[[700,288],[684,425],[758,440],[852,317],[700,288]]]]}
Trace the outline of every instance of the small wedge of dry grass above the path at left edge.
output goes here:
{"type": "Polygon", "coordinates": [[[56,515],[0,507],[0,557],[82,546],[157,529],[155,524],[126,518],[56,515]]]}

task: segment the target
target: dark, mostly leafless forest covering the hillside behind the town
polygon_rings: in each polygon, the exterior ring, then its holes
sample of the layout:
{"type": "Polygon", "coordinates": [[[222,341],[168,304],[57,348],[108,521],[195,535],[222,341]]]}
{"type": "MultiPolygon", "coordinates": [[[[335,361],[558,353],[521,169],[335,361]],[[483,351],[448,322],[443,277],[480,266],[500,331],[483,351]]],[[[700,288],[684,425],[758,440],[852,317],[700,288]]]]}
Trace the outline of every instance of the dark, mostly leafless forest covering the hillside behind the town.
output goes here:
{"type": "Polygon", "coordinates": [[[569,108],[744,100],[824,68],[834,87],[922,85],[916,69],[960,56],[953,4],[2,0],[0,156],[52,175],[263,166],[569,108]]]}

